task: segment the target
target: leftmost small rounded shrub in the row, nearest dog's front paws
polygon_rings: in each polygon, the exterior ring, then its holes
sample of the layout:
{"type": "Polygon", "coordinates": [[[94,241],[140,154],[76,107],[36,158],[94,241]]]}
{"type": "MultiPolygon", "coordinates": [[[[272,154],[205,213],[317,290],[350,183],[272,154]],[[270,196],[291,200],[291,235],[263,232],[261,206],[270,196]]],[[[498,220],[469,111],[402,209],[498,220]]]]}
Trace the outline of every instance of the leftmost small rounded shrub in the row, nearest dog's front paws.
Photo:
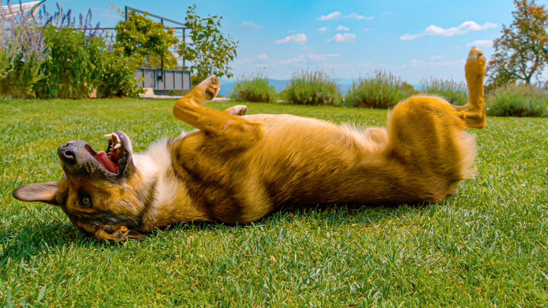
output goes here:
{"type": "Polygon", "coordinates": [[[242,81],[234,86],[230,98],[235,101],[275,103],[277,94],[274,86],[268,84],[268,77],[259,70],[249,76],[243,76],[242,81]]]}

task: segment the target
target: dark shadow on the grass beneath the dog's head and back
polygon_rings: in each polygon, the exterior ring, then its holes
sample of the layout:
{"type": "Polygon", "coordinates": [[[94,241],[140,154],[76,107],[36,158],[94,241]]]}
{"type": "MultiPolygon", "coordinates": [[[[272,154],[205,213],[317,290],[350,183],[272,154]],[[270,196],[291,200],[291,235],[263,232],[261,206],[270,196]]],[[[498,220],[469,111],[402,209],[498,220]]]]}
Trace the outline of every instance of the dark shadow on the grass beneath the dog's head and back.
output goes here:
{"type": "MultiPolygon", "coordinates": [[[[274,212],[267,217],[252,224],[229,225],[218,222],[179,222],[161,229],[154,229],[146,233],[146,241],[155,240],[159,233],[171,230],[178,231],[214,231],[228,232],[235,226],[264,226],[267,229],[275,228],[280,224],[289,224],[294,219],[304,219],[315,224],[327,224],[337,226],[339,224],[360,223],[378,224],[381,219],[397,219],[403,215],[430,207],[432,204],[382,204],[382,205],[337,205],[325,204],[313,207],[292,206],[274,212]],[[160,231],[160,232],[158,232],[160,231]]],[[[0,233],[0,264],[29,261],[38,255],[47,255],[63,248],[73,247],[103,247],[110,249],[119,244],[96,240],[79,231],[70,222],[40,222],[38,224],[26,224],[12,230],[4,229],[0,233]]]]}

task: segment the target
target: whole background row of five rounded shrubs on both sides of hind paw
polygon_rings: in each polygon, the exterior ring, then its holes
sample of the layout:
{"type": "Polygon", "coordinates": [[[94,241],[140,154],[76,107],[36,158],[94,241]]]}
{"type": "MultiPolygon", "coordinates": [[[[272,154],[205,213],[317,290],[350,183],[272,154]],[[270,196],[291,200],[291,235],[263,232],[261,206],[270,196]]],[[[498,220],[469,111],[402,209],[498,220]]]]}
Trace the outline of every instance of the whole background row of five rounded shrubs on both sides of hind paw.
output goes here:
{"type": "MultiPolygon", "coordinates": [[[[302,105],[353,105],[392,108],[403,99],[419,94],[412,85],[391,72],[375,70],[355,79],[343,96],[337,80],[321,70],[301,70],[292,74],[286,88],[276,93],[265,72],[242,76],[230,98],[236,101],[274,103],[278,100],[302,105]]],[[[455,105],[467,103],[467,84],[431,78],[420,82],[420,93],[441,96],[455,105]]],[[[535,86],[509,84],[485,96],[488,115],[514,117],[548,116],[548,91],[535,86]]]]}

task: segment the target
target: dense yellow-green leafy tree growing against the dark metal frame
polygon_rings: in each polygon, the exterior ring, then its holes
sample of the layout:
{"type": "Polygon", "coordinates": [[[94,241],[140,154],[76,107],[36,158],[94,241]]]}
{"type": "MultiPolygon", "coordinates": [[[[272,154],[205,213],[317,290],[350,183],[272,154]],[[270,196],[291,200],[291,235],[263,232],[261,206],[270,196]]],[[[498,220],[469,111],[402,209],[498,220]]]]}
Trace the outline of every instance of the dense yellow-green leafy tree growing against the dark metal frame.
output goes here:
{"type": "Polygon", "coordinates": [[[128,57],[140,57],[140,65],[158,66],[163,56],[164,67],[170,69],[177,64],[176,58],[168,50],[178,43],[173,34],[173,29],[168,28],[166,31],[161,23],[131,11],[128,20],[116,25],[115,48],[124,49],[128,57]]]}

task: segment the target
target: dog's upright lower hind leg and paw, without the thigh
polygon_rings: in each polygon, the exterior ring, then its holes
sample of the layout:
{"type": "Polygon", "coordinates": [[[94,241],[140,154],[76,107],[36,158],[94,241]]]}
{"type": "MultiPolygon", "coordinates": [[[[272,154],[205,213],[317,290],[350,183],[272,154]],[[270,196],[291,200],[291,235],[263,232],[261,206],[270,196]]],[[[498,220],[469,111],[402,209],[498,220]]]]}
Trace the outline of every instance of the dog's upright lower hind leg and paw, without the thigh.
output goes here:
{"type": "Polygon", "coordinates": [[[468,103],[464,106],[452,105],[457,115],[467,127],[485,127],[485,103],[483,101],[483,76],[485,76],[485,56],[480,49],[472,47],[464,67],[468,84],[468,103]]]}

